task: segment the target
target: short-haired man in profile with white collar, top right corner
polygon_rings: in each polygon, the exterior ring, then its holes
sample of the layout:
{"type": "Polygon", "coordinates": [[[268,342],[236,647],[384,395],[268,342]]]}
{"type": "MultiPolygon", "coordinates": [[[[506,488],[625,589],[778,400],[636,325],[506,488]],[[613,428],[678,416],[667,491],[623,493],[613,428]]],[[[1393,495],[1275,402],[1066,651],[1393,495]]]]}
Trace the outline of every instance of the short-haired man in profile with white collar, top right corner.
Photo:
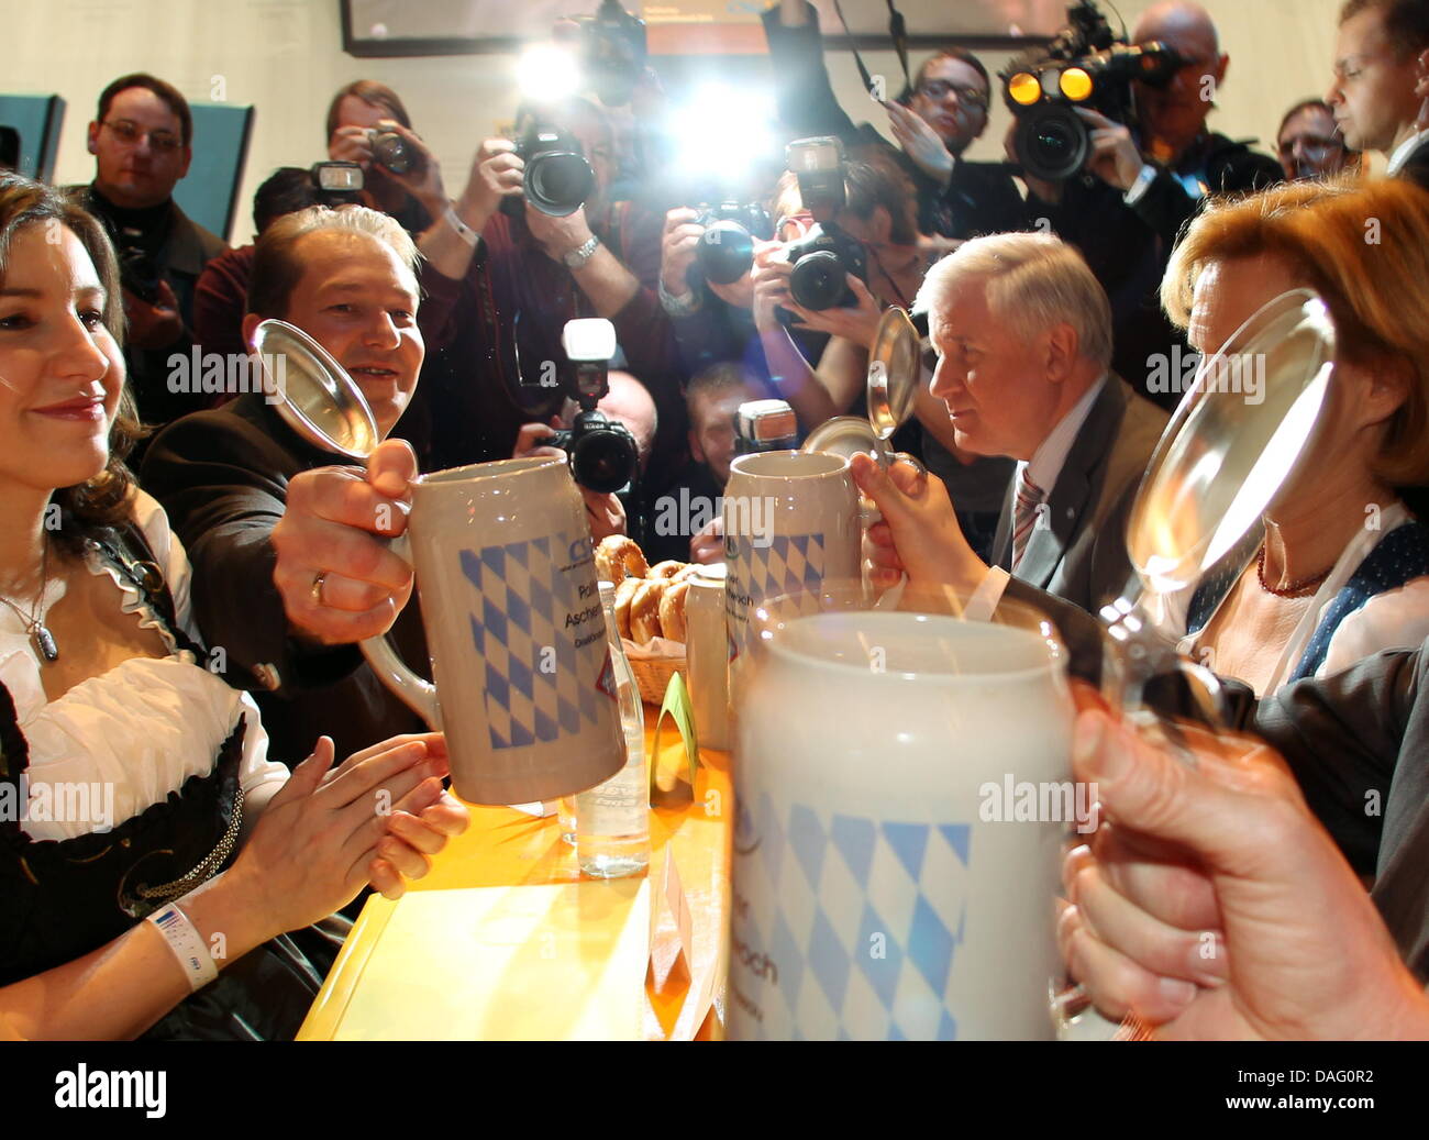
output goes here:
{"type": "Polygon", "coordinates": [[[1345,141],[1429,189],[1429,0],[1349,0],[1325,97],[1345,141]]]}

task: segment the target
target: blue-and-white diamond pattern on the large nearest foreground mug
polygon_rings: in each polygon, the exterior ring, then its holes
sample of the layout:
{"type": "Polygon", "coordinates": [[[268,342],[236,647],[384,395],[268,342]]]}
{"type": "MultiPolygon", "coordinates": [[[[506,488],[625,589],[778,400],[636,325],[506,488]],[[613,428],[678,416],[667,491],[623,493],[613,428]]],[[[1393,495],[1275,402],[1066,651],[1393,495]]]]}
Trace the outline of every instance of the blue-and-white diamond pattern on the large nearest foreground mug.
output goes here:
{"type": "Polygon", "coordinates": [[[779,819],[763,794],[753,830],[759,841],[735,861],[735,890],[750,903],[736,924],[770,931],[762,946],[777,983],[732,969],[763,1009],[757,1036],[797,1024],[823,1040],[955,1040],[946,994],[965,933],[969,824],[823,819],[803,804],[779,819]]]}

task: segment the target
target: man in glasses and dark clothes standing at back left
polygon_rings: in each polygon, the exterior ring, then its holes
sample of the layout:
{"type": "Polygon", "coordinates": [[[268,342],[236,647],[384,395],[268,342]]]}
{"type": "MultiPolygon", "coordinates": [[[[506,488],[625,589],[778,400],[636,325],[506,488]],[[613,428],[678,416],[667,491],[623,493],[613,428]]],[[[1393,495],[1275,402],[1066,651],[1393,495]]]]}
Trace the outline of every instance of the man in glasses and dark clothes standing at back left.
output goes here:
{"type": "Polygon", "coordinates": [[[200,393],[169,390],[169,357],[193,347],[194,286],[229,247],[193,221],[173,189],[193,160],[193,114],[176,87],[149,74],[110,83],[89,124],[94,181],[74,191],[114,240],[129,321],[124,359],[144,423],[203,407],[200,393]]]}

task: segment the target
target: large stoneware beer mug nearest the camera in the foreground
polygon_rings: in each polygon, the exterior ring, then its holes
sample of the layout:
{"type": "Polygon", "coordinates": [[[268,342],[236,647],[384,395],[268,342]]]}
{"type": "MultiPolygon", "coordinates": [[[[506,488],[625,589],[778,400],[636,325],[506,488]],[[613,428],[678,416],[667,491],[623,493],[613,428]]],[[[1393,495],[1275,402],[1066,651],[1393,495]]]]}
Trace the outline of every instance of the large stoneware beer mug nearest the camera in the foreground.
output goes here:
{"type": "Polygon", "coordinates": [[[1049,1040],[1062,839],[1095,801],[1065,650],[1033,620],[860,604],[756,607],[729,1037],[1049,1040]]]}

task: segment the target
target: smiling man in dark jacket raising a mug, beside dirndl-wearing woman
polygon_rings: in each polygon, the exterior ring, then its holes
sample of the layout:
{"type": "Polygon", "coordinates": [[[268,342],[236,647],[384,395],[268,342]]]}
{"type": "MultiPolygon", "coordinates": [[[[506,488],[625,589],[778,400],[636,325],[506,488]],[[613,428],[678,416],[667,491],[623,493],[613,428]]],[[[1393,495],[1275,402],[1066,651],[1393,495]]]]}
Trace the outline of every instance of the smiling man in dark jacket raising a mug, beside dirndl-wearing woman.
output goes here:
{"type": "MultiPolygon", "coordinates": [[[[424,356],[416,263],[412,239],[374,210],[287,214],[259,239],[244,339],[266,317],[309,331],[362,387],[386,437],[424,356]]],[[[410,567],[363,540],[403,527],[416,457],[389,440],[366,471],[339,461],[250,393],[170,424],[143,467],[193,563],[199,627],[229,680],[259,690],[273,754],[289,761],[324,733],[347,754],[422,729],[354,644],[386,630],[412,593],[410,567]]],[[[394,640],[424,666],[416,607],[394,640]]]]}

